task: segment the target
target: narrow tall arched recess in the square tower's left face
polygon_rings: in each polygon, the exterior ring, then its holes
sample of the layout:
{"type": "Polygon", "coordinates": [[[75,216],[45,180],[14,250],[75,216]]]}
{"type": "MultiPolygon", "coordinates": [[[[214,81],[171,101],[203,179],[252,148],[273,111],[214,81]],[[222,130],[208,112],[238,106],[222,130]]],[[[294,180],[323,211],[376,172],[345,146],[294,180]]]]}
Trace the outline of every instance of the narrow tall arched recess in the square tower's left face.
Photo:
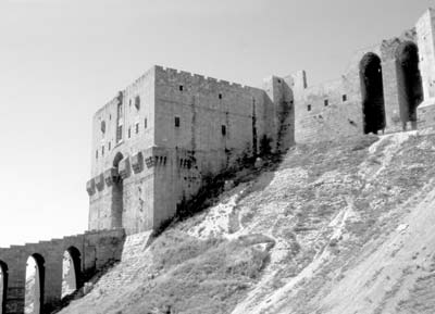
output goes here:
{"type": "Polygon", "coordinates": [[[120,171],[120,162],[124,159],[124,155],[121,152],[117,152],[115,158],[113,159],[113,167],[116,169],[116,176],[113,178],[113,187],[112,187],[112,228],[121,228],[122,219],[123,219],[123,206],[124,206],[124,187],[123,179],[119,175],[120,171]]]}

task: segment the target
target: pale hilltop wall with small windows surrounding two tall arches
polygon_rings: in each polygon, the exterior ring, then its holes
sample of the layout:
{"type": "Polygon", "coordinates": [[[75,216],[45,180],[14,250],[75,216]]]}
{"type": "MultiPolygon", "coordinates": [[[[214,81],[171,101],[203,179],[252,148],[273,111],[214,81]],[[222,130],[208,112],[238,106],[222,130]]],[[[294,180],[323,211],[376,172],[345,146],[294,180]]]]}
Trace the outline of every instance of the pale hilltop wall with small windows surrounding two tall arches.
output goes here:
{"type": "MultiPolygon", "coordinates": [[[[384,40],[382,45],[361,49],[351,58],[350,65],[340,78],[318,86],[307,87],[306,77],[300,73],[286,77],[295,99],[296,141],[339,140],[363,134],[360,63],[366,53],[375,53],[382,61],[386,121],[384,131],[402,130],[399,92],[403,87],[398,81],[396,51],[403,42],[414,41],[415,32],[411,29],[399,37],[384,40]],[[328,100],[328,105],[325,105],[325,100],[328,100]]],[[[411,123],[406,124],[410,129],[411,123]]]]}

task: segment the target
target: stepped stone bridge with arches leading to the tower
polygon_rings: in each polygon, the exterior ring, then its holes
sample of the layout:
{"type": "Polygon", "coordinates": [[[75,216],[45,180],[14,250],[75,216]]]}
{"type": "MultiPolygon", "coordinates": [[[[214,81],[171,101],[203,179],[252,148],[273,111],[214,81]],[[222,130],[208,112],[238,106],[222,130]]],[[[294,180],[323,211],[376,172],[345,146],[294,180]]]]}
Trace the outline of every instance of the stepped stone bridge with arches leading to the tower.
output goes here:
{"type": "Polygon", "coordinates": [[[78,276],[83,284],[109,262],[120,261],[124,240],[124,230],[116,229],[0,249],[0,261],[8,267],[5,313],[24,314],[26,264],[30,255],[38,254],[42,259],[41,313],[48,313],[61,301],[63,254],[69,248],[74,247],[80,253],[78,276]]]}

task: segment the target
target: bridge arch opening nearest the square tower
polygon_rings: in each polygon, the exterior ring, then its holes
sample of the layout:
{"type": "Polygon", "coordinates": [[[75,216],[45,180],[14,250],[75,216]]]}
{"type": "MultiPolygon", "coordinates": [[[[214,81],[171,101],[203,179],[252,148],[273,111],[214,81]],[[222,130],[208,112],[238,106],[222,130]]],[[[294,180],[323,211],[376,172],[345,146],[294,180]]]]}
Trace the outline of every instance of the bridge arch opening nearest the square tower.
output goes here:
{"type": "Polygon", "coordinates": [[[71,247],[63,253],[62,294],[65,298],[82,287],[82,261],[77,248],[71,247]]]}

